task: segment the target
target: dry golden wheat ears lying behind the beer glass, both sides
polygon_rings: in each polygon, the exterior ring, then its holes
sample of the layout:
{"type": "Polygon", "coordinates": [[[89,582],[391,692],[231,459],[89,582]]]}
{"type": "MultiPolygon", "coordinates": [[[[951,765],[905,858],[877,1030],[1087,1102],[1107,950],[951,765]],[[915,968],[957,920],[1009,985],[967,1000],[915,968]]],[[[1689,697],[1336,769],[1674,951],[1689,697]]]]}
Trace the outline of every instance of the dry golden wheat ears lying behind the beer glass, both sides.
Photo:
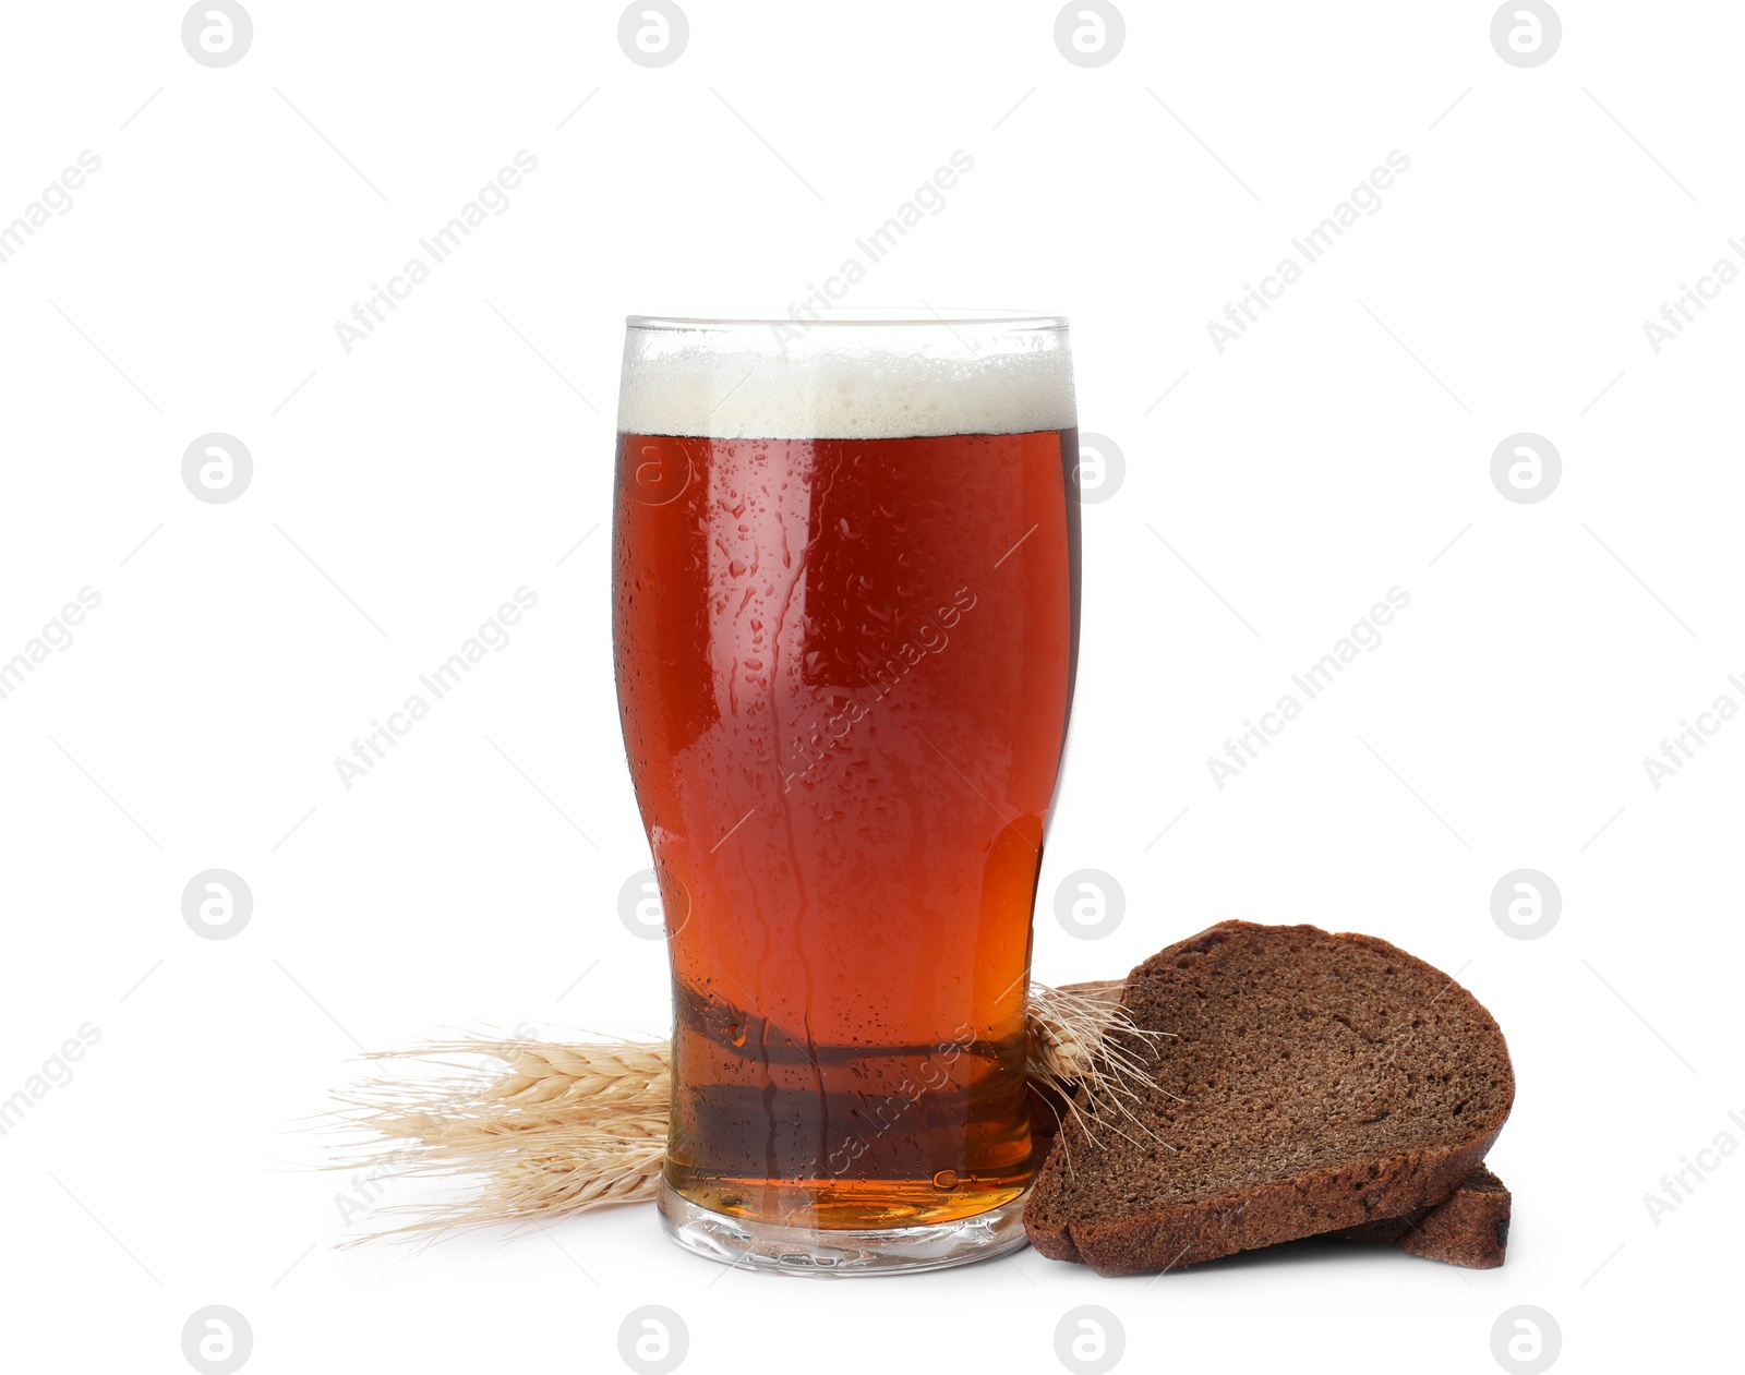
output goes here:
{"type": "MultiPolygon", "coordinates": [[[[1087,1132],[1092,1120],[1124,1134],[1122,1122],[1145,1131],[1129,1103],[1153,1084],[1148,1047],[1160,1033],[1133,1024],[1120,988],[1115,979],[1030,989],[1030,1080],[1087,1132]]],[[[672,1094],[667,1042],[466,1036],[366,1059],[424,1071],[387,1073],[339,1094],[344,1118],[365,1136],[335,1167],[483,1180],[471,1197],[419,1209],[422,1216],[396,1232],[544,1225],[653,1199],[660,1187],[672,1094]],[[480,1080],[485,1063],[501,1070],[480,1080]]]]}

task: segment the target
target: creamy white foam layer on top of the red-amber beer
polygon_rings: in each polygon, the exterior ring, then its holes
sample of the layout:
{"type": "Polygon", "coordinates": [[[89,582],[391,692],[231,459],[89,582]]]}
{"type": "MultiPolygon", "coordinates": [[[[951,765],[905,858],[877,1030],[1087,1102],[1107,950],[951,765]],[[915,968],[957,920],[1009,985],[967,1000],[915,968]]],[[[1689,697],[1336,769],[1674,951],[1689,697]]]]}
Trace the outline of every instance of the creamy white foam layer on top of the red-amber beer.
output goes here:
{"type": "MultiPolygon", "coordinates": [[[[961,345],[953,342],[955,349],[961,345]]],[[[618,429],[710,440],[900,440],[1024,434],[1077,424],[1061,345],[979,358],[932,352],[625,354],[618,429]]]]}

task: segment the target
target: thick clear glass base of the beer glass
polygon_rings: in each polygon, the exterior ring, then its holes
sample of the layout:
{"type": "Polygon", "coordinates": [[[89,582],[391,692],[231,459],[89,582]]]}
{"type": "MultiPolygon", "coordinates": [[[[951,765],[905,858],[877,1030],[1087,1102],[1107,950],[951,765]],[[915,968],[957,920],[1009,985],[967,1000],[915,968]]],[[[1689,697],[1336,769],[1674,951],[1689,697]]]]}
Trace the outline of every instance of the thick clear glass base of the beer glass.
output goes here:
{"type": "Polygon", "coordinates": [[[893,1276],[993,1260],[1026,1244],[1026,1188],[988,1213],[923,1227],[838,1230],[749,1221],[700,1207],[665,1180],[660,1225],[686,1251],[784,1276],[893,1276]]]}

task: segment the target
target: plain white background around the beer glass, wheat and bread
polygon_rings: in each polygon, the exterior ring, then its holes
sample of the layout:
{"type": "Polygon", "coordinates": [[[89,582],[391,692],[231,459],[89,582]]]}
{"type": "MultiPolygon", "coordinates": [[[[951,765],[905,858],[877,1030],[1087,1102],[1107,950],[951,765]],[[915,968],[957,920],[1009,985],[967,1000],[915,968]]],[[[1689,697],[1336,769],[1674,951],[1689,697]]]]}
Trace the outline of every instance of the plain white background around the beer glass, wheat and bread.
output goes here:
{"type": "Polygon", "coordinates": [[[710,1372],[1057,1370],[1078,1303],[1133,1370],[1490,1370],[1516,1303],[1567,1370],[1736,1359],[1745,1153],[1658,1227],[1644,1195],[1745,1115],[1745,722],[1658,790],[1642,766],[1745,703],[1745,286],[1658,356],[1642,330],[1745,232],[1736,5],[1570,0],[1534,70],[1454,2],[1129,3],[1094,70],[1028,2],[688,0],[663,70],[616,5],[250,9],[225,70],[180,5],[12,5],[0,38],[0,222],[103,161],[0,263],[0,658],[103,599],[0,701],[0,1096],[101,1031],[0,1138],[9,1365],[185,1370],[208,1303],[251,1372],[618,1370],[642,1303],[710,1372]],[[347,356],[333,323],[522,148],[510,208],[347,356]],[[607,632],[623,316],[784,309],[956,148],[853,304],[1070,314],[1080,424],[1127,466],[1085,510],[1035,974],[1227,916],[1459,972],[1520,1078],[1508,1265],[799,1288],[649,1207],[333,1249],[314,1129],[361,1047],[665,1026],[663,946],[616,916],[647,864],[607,632]],[[1394,148],[1382,209],[1220,356],[1206,323],[1394,148]],[[253,454],[230,504],[180,478],[208,431],[253,454]],[[1562,454],[1537,504],[1490,482],[1516,431],[1562,454]],[[346,790],[335,756],[524,585],[513,642],[346,790]],[[1208,756],[1396,585],[1380,649],[1220,790],[1208,756]],[[1490,918],[1523,865],[1564,897],[1537,941],[1490,918]],[[253,890],[236,939],[181,920],[208,867],[253,890]],[[1126,890],[1103,941],[1052,916],[1082,867],[1126,890]]]}

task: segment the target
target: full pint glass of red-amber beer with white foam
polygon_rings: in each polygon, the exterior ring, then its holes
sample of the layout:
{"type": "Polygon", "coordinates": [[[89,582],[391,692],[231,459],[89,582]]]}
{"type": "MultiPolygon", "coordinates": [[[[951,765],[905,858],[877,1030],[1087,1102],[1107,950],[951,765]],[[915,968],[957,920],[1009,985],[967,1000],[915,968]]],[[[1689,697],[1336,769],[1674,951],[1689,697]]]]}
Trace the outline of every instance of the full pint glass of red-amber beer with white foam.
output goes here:
{"type": "Polygon", "coordinates": [[[1023,1244],[1075,424],[1059,318],[628,321],[612,642],[691,1251],[852,1274],[1023,1244]]]}

